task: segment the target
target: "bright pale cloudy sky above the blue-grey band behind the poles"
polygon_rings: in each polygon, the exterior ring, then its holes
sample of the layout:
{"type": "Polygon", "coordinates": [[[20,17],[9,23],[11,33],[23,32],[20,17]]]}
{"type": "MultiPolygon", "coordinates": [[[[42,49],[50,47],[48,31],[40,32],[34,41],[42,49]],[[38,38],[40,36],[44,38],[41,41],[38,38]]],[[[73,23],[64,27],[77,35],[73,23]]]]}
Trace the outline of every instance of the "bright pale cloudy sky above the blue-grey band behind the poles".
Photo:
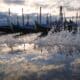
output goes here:
{"type": "Polygon", "coordinates": [[[39,13],[39,7],[42,7],[43,13],[59,14],[59,6],[62,5],[65,15],[75,15],[80,10],[80,0],[0,0],[0,12],[11,12],[21,15],[21,9],[24,8],[24,14],[39,13]]]}

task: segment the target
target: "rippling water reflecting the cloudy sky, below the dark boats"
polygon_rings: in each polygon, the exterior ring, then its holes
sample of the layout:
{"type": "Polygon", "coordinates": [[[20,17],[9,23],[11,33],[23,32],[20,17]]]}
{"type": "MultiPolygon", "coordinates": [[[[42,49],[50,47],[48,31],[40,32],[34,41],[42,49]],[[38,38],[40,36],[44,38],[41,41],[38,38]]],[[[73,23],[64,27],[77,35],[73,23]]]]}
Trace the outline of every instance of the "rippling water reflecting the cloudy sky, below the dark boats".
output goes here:
{"type": "Polygon", "coordinates": [[[80,33],[0,37],[0,80],[79,80],[80,33]]]}

